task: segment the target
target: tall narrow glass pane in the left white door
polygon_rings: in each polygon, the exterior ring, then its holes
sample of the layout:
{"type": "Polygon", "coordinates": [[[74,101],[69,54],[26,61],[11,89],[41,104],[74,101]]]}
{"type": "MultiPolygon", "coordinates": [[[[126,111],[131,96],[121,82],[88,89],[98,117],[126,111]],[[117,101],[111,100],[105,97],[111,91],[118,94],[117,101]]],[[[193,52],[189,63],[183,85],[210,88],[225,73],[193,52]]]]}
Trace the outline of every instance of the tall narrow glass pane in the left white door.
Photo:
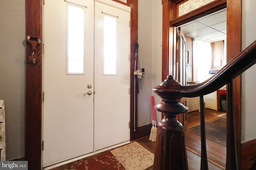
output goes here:
{"type": "Polygon", "coordinates": [[[67,4],[68,74],[84,74],[85,8],[67,4]]]}

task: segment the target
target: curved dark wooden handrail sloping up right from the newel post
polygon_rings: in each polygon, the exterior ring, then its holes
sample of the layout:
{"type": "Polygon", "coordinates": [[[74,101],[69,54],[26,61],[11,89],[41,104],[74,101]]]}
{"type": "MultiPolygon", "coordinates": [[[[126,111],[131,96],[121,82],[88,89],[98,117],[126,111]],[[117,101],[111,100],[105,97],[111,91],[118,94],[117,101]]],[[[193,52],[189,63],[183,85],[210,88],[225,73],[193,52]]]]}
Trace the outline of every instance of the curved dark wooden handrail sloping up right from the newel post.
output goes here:
{"type": "MultiPolygon", "coordinates": [[[[245,70],[256,63],[256,41],[239,53],[234,59],[222,67],[208,80],[194,86],[179,86],[176,88],[161,88],[169,98],[197,97],[210,94],[228,83],[230,78],[242,74],[245,70]]],[[[164,82],[160,86],[166,86],[164,82]]],[[[153,91],[158,94],[157,87],[153,91]]],[[[161,91],[160,91],[161,92],[161,91]]]]}

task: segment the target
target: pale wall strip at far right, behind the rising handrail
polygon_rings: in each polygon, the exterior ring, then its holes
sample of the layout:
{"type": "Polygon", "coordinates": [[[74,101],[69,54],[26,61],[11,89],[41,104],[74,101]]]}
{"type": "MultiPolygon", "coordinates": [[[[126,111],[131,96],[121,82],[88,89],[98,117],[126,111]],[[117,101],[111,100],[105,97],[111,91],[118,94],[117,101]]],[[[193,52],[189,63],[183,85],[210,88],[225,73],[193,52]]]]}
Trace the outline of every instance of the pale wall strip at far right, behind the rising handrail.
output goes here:
{"type": "MultiPolygon", "coordinates": [[[[256,40],[256,1],[242,1],[242,50],[256,40]]],[[[256,139],[256,65],[242,74],[242,142],[256,139]]]]}

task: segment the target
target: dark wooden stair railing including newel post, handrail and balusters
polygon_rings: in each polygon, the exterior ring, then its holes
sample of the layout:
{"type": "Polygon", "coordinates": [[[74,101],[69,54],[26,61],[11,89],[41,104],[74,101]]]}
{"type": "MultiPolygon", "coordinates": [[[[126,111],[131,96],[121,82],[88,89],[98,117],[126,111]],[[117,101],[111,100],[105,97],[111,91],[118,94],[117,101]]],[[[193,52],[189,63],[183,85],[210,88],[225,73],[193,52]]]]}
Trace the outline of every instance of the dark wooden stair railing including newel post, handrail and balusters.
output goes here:
{"type": "Polygon", "coordinates": [[[256,63],[256,41],[239,53],[222,69],[208,80],[195,86],[181,86],[169,75],[164,82],[153,88],[153,91],[162,98],[162,102],[155,105],[156,110],[163,113],[164,118],[158,123],[154,170],[188,170],[186,157],[185,135],[182,124],[176,119],[180,113],[185,113],[188,107],[179,103],[183,97],[200,96],[201,103],[201,170],[208,169],[203,97],[225,84],[228,84],[228,118],[227,118],[227,159],[226,170],[238,170],[234,106],[233,106],[233,79],[256,63]]]}

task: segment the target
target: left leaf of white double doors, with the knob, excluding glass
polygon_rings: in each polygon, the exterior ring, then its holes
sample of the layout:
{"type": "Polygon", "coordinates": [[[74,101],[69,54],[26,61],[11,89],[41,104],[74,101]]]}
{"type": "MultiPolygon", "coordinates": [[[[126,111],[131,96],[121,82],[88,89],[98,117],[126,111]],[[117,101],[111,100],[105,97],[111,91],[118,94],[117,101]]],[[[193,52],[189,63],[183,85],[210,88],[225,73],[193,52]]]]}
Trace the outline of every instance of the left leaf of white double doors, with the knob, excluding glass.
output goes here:
{"type": "Polygon", "coordinates": [[[93,152],[94,99],[83,94],[94,90],[94,1],[80,3],[86,6],[86,74],[82,75],[66,74],[66,4],[51,0],[44,5],[43,166],[93,152]]]}

